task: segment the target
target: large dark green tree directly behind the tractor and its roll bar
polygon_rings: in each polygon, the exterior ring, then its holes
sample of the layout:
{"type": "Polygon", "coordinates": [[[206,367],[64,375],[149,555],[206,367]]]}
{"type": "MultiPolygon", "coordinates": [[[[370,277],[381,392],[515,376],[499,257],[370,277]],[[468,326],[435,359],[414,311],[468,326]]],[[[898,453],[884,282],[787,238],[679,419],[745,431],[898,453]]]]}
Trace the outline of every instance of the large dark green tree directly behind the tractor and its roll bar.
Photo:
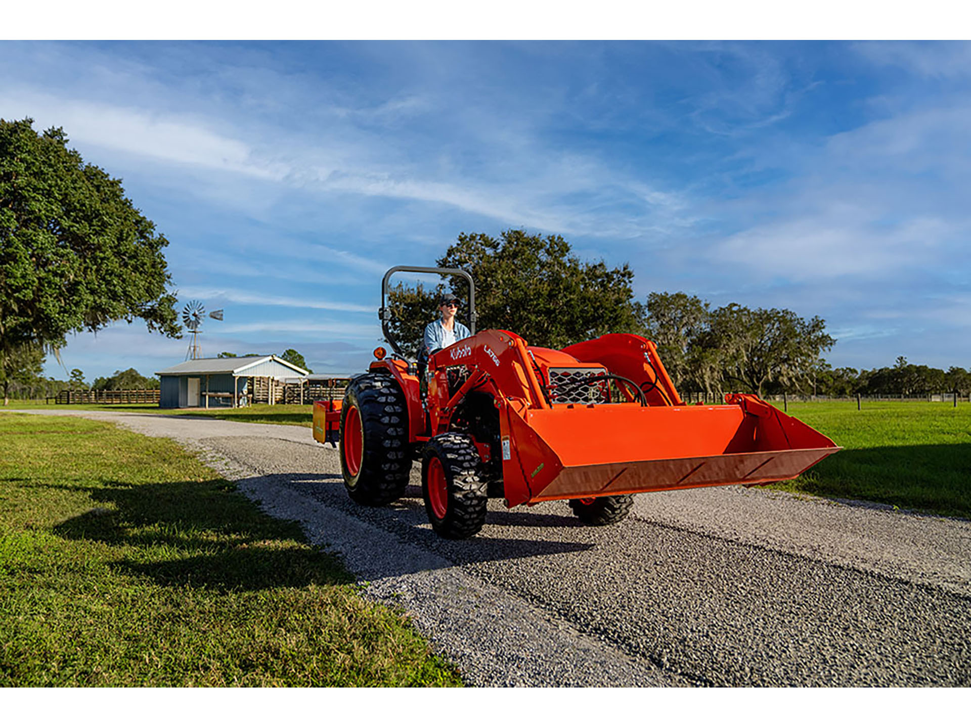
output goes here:
{"type": "MultiPolygon", "coordinates": [[[[506,329],[553,348],[640,330],[633,271],[626,264],[608,268],[603,261],[583,261],[559,235],[462,233],[436,264],[472,275],[480,330],[506,329]]],[[[438,294],[446,284],[467,307],[468,286],[458,277],[435,288],[398,283],[390,291],[392,333],[412,356],[425,325],[439,316],[438,294]]],[[[468,323],[467,310],[457,317],[468,323]]]]}

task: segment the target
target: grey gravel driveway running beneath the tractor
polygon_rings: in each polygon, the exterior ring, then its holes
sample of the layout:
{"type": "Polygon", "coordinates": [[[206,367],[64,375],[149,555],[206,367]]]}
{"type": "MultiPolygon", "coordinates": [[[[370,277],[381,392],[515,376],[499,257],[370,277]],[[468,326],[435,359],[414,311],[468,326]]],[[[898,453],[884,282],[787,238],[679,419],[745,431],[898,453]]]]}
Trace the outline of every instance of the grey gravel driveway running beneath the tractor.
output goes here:
{"type": "Polygon", "coordinates": [[[448,542],[418,468],[395,506],[356,506],[309,428],[76,414],[199,452],[473,685],[971,685],[967,520],[721,487],[639,495],[603,528],[490,501],[478,537],[448,542]]]}

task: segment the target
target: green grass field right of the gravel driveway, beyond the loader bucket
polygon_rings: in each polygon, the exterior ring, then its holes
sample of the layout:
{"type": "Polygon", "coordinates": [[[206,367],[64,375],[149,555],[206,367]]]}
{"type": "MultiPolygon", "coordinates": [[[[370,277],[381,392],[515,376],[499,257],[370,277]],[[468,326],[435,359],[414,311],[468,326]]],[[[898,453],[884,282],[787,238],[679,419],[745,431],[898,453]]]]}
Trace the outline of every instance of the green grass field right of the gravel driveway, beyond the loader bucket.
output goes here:
{"type": "Polygon", "coordinates": [[[810,402],[788,414],[846,449],[773,487],[971,517],[971,405],[810,402]]]}

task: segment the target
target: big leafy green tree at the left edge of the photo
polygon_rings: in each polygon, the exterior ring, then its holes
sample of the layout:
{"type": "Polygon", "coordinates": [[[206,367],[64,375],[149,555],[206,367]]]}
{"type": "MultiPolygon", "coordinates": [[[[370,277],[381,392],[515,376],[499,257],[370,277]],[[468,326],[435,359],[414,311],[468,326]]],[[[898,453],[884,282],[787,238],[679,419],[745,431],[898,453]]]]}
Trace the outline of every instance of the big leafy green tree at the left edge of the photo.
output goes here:
{"type": "Polygon", "coordinates": [[[146,321],[178,337],[165,237],[63,129],[0,119],[0,358],[72,331],[146,321]]]}

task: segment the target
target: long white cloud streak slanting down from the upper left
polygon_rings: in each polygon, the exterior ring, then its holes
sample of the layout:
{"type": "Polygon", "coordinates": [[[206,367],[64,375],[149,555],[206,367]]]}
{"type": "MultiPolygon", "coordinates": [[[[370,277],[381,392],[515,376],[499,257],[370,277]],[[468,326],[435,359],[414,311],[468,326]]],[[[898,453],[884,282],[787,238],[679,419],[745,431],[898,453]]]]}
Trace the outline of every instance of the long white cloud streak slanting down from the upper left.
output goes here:
{"type": "MultiPolygon", "coordinates": [[[[77,50],[65,55],[73,63],[84,62],[77,50]]],[[[442,97],[451,98],[454,89],[438,88],[431,94],[405,89],[377,104],[363,96],[346,96],[343,106],[328,99],[334,103],[306,112],[317,125],[301,123],[283,131],[289,124],[281,115],[289,114],[287,110],[253,106],[249,99],[261,93],[299,99],[311,92],[306,77],[259,69],[257,88],[257,82],[231,75],[245,99],[233,105],[203,97],[192,86],[166,86],[151,68],[127,63],[123,72],[111,71],[103,67],[110,59],[94,57],[105,83],[117,86],[114,94],[106,96],[98,89],[104,100],[92,101],[84,89],[55,95],[21,82],[0,92],[5,114],[13,110],[12,116],[33,116],[44,128],[63,126],[82,147],[168,165],[191,176],[186,182],[195,195],[248,212],[266,214],[267,198],[280,200],[288,189],[300,188],[324,200],[332,201],[337,192],[415,201],[483,215],[502,226],[564,234],[631,237],[693,224],[678,193],[613,169],[595,153],[551,149],[542,124],[555,114],[554,108],[511,118],[498,104],[492,109],[481,101],[474,110],[461,111],[460,104],[450,101],[456,111],[442,118],[442,97]],[[145,93],[146,87],[154,89],[157,99],[145,93]],[[450,123],[459,125],[448,130],[450,137],[460,135],[464,147],[475,153],[456,150],[453,140],[441,144],[436,130],[450,123]],[[219,176],[207,180],[207,173],[219,176]],[[247,181],[266,191],[241,190],[240,182],[247,181]],[[625,198],[623,215],[604,208],[608,188],[625,198]]],[[[313,98],[321,93],[313,89],[313,98]]],[[[156,177],[177,183],[165,172],[156,177]]],[[[347,255],[345,260],[353,262],[347,255]]],[[[357,264],[375,270],[366,258],[357,264]]]]}

